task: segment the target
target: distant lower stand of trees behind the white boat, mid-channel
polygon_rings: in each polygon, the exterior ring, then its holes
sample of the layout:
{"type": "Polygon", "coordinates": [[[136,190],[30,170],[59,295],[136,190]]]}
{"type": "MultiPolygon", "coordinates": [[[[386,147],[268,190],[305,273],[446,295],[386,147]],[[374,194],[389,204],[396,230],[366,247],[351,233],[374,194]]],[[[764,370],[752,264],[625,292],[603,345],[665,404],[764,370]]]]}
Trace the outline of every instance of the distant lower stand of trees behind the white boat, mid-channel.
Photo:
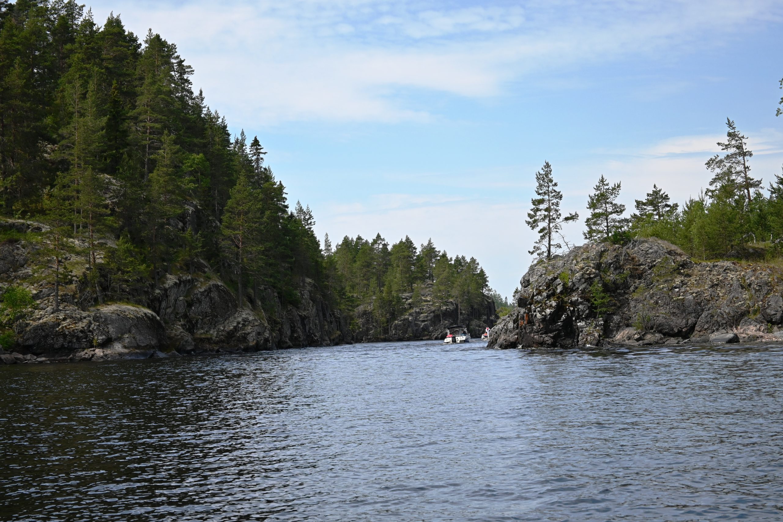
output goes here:
{"type": "Polygon", "coordinates": [[[327,271],[334,278],[333,285],[341,289],[342,298],[350,308],[372,304],[381,331],[406,311],[405,293],[411,294],[414,307],[422,304],[425,296],[441,309],[453,301],[460,321],[480,313],[487,299],[487,275],[478,261],[449,257],[432,239],[417,248],[408,236],[391,247],[381,234],[371,241],[345,236],[333,251],[327,236],[324,250],[327,271]]]}

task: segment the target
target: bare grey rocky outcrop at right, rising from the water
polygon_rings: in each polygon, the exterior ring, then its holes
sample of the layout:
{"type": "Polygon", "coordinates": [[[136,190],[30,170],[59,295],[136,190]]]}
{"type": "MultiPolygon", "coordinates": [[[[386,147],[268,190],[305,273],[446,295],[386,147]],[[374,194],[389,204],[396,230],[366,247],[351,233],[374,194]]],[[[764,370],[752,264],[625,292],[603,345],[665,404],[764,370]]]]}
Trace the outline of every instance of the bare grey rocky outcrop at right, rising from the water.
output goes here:
{"type": "Polygon", "coordinates": [[[489,346],[780,340],[783,270],[696,262],[659,239],[586,244],[532,265],[489,346]]]}

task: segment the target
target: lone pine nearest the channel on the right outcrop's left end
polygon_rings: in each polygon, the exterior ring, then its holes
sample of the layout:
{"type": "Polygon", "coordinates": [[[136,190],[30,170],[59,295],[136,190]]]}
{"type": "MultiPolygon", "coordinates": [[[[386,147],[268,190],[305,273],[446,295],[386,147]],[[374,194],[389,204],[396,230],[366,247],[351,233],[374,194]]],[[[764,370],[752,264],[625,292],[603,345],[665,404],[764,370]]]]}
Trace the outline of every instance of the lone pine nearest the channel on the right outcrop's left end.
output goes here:
{"type": "Polygon", "coordinates": [[[530,254],[551,259],[554,250],[563,247],[554,242],[553,237],[560,234],[563,223],[576,221],[579,214],[574,212],[562,218],[560,202],[563,200],[563,193],[557,190],[557,182],[552,178],[552,166],[548,161],[536,172],[536,195],[539,197],[530,200],[532,209],[525,220],[525,223],[539,234],[536,246],[530,250],[530,254]]]}

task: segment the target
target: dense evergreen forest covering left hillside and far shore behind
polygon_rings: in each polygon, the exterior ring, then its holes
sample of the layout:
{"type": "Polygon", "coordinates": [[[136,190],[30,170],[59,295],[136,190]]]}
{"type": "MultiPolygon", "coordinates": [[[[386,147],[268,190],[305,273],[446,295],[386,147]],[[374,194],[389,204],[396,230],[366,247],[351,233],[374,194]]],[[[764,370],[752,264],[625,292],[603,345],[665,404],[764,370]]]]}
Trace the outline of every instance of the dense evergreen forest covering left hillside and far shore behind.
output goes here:
{"type": "Polygon", "coordinates": [[[379,324],[426,286],[470,308],[488,290],[475,259],[405,238],[323,248],[309,207],[290,209],[258,137],[231,135],[194,93],[176,45],[76,2],[0,0],[0,214],[43,222],[33,276],[78,304],[143,302],[166,274],[207,273],[264,308],[307,280],[335,306],[373,302],[379,324]],[[409,298],[411,297],[409,296],[409,298]]]}

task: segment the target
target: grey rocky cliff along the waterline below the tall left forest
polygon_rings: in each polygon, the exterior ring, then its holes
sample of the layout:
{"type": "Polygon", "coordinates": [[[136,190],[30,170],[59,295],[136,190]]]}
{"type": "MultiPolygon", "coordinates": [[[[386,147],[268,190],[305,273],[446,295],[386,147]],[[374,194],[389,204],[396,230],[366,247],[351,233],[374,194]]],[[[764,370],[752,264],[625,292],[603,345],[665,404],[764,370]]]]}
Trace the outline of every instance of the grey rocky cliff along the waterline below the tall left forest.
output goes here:
{"type": "Polygon", "coordinates": [[[242,309],[234,293],[208,273],[167,275],[140,304],[85,306],[79,282],[73,280],[61,286],[60,311],[55,312],[51,278],[33,261],[35,250],[20,240],[0,243],[0,287],[27,286],[35,300],[33,309],[13,325],[15,353],[0,351],[2,362],[168,357],[352,342],[345,319],[309,279],[298,290],[296,305],[283,304],[273,290],[262,288],[263,306],[242,309]]]}

